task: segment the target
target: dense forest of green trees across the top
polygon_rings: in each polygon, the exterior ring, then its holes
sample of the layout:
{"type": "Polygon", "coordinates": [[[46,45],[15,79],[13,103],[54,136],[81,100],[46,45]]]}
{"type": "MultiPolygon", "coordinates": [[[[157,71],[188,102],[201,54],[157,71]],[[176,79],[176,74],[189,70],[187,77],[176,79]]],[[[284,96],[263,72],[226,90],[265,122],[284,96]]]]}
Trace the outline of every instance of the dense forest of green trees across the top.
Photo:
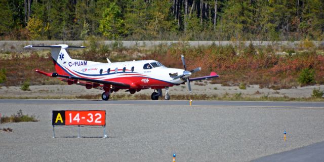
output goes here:
{"type": "Polygon", "coordinates": [[[0,0],[1,40],[324,38],[322,0],[0,0]]]}

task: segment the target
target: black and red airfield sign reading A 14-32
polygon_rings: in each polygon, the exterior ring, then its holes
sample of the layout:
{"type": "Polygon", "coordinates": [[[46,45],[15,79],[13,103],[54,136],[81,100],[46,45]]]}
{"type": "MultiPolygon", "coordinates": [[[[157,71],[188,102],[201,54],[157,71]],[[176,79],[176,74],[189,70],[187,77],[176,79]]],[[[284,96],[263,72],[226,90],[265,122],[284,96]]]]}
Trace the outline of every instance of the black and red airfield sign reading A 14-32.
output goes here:
{"type": "Polygon", "coordinates": [[[53,126],[71,126],[71,125],[90,125],[90,126],[105,126],[106,111],[90,110],[61,110],[53,111],[52,115],[53,126]]]}

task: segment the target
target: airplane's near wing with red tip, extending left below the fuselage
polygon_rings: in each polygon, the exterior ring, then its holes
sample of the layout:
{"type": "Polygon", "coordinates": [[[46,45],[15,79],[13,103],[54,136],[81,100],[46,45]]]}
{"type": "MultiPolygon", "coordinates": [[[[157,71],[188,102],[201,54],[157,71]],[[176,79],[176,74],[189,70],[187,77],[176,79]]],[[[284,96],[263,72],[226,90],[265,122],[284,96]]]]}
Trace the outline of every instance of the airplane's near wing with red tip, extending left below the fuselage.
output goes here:
{"type": "Polygon", "coordinates": [[[67,78],[67,79],[76,79],[76,80],[84,80],[87,82],[92,82],[92,83],[98,83],[98,84],[105,84],[105,85],[113,85],[113,86],[118,86],[118,87],[124,87],[124,88],[130,88],[131,86],[128,84],[124,83],[119,83],[119,82],[110,82],[110,81],[105,81],[105,80],[97,80],[97,79],[89,79],[89,78],[83,78],[83,77],[76,77],[76,76],[67,76],[67,75],[60,75],[58,73],[47,73],[41,70],[36,69],[36,72],[46,75],[46,76],[51,76],[51,77],[61,77],[61,78],[67,78]]]}

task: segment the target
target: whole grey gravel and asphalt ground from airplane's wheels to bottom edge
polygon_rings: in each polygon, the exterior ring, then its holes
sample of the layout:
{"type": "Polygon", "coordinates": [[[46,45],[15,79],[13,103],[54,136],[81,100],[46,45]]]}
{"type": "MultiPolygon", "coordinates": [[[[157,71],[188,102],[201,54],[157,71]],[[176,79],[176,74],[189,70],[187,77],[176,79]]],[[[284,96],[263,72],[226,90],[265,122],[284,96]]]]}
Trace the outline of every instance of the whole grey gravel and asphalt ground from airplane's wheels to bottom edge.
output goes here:
{"type": "Polygon", "coordinates": [[[323,161],[323,102],[0,100],[0,161],[323,161]],[[103,128],[55,127],[52,110],[106,110],[103,128]],[[287,130],[287,141],[283,140],[287,130]]]}

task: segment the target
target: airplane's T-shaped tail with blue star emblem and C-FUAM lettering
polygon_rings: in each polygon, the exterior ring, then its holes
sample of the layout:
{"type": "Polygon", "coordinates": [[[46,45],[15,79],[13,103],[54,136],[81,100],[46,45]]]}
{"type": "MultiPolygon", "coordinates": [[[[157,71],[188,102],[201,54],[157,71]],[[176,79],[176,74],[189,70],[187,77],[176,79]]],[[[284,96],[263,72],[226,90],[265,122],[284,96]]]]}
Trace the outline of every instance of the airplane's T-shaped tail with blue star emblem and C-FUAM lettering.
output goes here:
{"type": "Polygon", "coordinates": [[[28,45],[24,49],[38,49],[46,48],[51,49],[51,55],[54,62],[55,70],[60,75],[71,75],[73,76],[73,69],[78,69],[82,66],[98,64],[98,62],[85,61],[85,60],[74,60],[67,53],[66,49],[85,48],[84,46],[74,47],[68,45],[54,45],[54,46],[33,46],[28,45]]]}

